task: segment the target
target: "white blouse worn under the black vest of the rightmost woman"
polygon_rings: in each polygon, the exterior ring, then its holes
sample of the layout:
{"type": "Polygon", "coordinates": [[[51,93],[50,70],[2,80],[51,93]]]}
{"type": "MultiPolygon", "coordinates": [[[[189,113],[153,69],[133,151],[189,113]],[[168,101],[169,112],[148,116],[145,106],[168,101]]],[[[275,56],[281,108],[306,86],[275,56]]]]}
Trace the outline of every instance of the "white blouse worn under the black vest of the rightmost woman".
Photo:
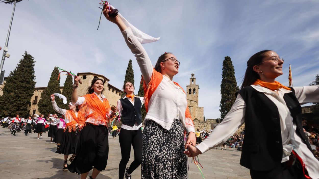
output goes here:
{"type": "MultiPolygon", "coordinates": [[[[293,117],[283,98],[285,93],[290,93],[292,91],[278,89],[277,95],[274,91],[261,87],[260,85],[251,86],[257,91],[263,92],[278,108],[283,144],[283,156],[281,162],[288,161],[292,150],[294,150],[304,161],[309,176],[311,178],[319,178],[319,161],[297,135],[297,126],[293,123],[293,117]]],[[[301,105],[319,102],[319,85],[293,87],[293,89],[295,90],[295,95],[301,105]]],[[[232,108],[225,116],[224,120],[216,126],[202,143],[196,146],[197,149],[200,150],[201,153],[204,153],[207,150],[224,143],[245,122],[245,111],[245,101],[241,95],[238,94],[232,108]]]]}

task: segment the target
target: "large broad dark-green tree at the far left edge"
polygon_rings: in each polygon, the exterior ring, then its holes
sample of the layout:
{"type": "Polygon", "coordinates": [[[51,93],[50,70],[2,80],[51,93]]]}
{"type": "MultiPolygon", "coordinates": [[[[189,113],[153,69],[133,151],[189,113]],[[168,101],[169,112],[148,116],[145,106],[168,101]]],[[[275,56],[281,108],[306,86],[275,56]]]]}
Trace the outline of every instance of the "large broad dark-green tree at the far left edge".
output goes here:
{"type": "Polygon", "coordinates": [[[17,67],[11,71],[3,88],[0,99],[2,116],[21,117],[29,115],[28,105],[33,96],[35,86],[34,58],[27,52],[24,53],[17,67]]]}

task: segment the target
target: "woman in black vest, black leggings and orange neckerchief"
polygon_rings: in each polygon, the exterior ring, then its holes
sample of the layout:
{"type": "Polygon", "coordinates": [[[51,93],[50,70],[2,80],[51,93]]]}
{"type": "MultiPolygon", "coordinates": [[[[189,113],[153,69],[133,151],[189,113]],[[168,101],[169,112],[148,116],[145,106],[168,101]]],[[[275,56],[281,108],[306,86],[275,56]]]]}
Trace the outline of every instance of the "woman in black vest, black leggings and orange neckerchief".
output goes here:
{"type": "Polygon", "coordinates": [[[134,85],[125,82],[123,90],[125,97],[117,101],[116,110],[121,114],[121,132],[119,142],[121,146],[122,159],[119,164],[119,178],[130,178],[132,172],[142,163],[142,116],[141,108],[144,104],[143,97],[134,95],[134,85]],[[131,146],[134,149],[134,161],[125,171],[126,164],[130,160],[131,146]]]}

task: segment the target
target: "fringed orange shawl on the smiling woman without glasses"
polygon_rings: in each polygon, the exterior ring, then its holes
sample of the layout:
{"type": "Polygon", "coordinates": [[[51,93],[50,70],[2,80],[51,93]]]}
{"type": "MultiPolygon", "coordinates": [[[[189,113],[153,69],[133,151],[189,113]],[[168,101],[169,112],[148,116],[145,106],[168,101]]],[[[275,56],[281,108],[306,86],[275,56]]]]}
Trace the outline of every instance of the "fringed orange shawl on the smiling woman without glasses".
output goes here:
{"type": "MultiPolygon", "coordinates": [[[[84,114],[85,120],[87,118],[93,118],[92,122],[100,121],[107,125],[106,115],[111,111],[110,104],[106,98],[103,99],[103,102],[95,94],[86,94],[85,103],[79,106],[79,112],[84,114]],[[91,114],[88,114],[89,111],[92,111],[91,114]]],[[[85,125],[85,120],[84,124],[85,125]]]]}

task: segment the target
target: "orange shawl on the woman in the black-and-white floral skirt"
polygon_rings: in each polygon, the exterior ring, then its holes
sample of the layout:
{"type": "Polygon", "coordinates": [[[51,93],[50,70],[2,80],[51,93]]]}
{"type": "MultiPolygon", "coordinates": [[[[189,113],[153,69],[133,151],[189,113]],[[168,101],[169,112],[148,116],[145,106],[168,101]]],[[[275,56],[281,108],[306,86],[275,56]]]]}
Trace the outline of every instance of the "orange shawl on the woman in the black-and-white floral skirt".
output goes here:
{"type": "MultiPolygon", "coordinates": [[[[142,78],[142,80],[143,80],[143,78],[142,78]]],[[[145,105],[146,113],[148,111],[148,101],[151,99],[152,94],[154,93],[156,88],[159,86],[159,83],[162,82],[162,80],[163,80],[163,75],[161,73],[159,73],[158,71],[156,71],[155,69],[153,69],[153,74],[152,74],[151,80],[147,86],[146,86],[145,80],[143,80],[144,105],[145,105]]],[[[185,93],[184,89],[177,82],[174,82],[174,83],[177,86],[179,86],[183,90],[183,92],[185,93]]],[[[190,115],[188,107],[186,107],[185,118],[191,119],[190,121],[193,123],[192,116],[190,115]]],[[[186,125],[188,125],[188,124],[186,123],[186,125]]]]}

